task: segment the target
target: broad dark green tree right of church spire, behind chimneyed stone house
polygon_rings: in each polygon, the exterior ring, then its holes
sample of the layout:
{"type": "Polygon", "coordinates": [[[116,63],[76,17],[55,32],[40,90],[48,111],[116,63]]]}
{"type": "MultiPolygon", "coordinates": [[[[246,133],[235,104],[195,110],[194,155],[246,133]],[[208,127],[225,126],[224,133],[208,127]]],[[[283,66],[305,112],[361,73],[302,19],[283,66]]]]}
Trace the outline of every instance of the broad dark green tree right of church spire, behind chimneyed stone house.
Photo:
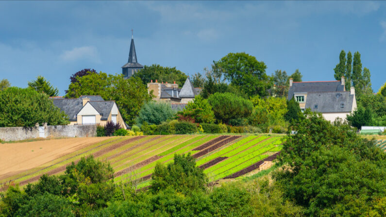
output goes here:
{"type": "Polygon", "coordinates": [[[176,67],[162,67],[158,64],[151,66],[144,66],[143,69],[139,70],[134,74],[134,77],[140,78],[143,84],[150,83],[151,80],[155,82],[176,82],[178,86],[182,87],[186,81],[186,74],[176,67]]]}

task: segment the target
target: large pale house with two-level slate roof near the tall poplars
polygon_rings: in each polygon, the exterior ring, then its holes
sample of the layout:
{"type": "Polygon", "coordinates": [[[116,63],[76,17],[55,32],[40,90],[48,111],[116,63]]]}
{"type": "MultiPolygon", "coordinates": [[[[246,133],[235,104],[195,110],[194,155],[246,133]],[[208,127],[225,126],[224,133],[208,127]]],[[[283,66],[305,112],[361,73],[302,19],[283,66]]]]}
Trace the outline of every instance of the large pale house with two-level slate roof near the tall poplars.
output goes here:
{"type": "Polygon", "coordinates": [[[322,113],[326,120],[345,120],[356,109],[355,89],[346,91],[345,79],[327,82],[293,82],[289,79],[288,100],[295,98],[302,111],[309,108],[322,113]]]}

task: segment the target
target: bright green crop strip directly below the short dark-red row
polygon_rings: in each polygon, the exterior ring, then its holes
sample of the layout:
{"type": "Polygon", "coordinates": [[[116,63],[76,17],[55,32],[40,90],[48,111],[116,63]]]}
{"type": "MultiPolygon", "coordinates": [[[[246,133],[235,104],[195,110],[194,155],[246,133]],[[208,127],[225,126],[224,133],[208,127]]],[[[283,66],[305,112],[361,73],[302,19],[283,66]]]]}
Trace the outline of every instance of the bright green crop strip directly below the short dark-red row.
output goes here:
{"type": "MultiPolygon", "coordinates": [[[[274,138],[274,137],[269,138],[268,140],[262,142],[261,144],[259,144],[257,146],[254,146],[254,147],[252,147],[248,150],[245,150],[239,154],[235,154],[232,157],[229,157],[229,158],[219,162],[218,164],[205,169],[205,171],[206,171],[206,173],[213,172],[213,171],[215,171],[215,170],[219,169],[220,167],[223,167],[227,164],[230,164],[230,163],[235,162],[235,161],[237,162],[238,159],[243,159],[244,156],[253,155],[252,153],[258,153],[257,155],[262,154],[262,153],[272,149],[274,147],[274,145],[272,145],[272,144],[269,146],[267,146],[267,145],[272,143],[273,141],[275,141],[277,139],[278,138],[274,138]],[[257,151],[257,152],[255,152],[255,151],[257,151]]],[[[255,156],[257,156],[257,155],[255,154],[255,156]]],[[[220,173],[220,172],[216,172],[216,173],[220,173]]]]}

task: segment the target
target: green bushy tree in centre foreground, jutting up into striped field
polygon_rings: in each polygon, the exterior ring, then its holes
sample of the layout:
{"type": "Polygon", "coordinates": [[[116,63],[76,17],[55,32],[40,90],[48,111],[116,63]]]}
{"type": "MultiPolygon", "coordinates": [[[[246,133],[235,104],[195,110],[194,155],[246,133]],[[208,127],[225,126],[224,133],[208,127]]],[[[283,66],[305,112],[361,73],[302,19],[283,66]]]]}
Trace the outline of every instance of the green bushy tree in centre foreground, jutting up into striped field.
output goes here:
{"type": "Polygon", "coordinates": [[[203,170],[196,167],[196,161],[190,153],[186,156],[175,154],[173,163],[166,167],[158,162],[151,175],[152,192],[158,192],[171,186],[176,192],[189,194],[203,190],[206,183],[207,178],[203,170]]]}

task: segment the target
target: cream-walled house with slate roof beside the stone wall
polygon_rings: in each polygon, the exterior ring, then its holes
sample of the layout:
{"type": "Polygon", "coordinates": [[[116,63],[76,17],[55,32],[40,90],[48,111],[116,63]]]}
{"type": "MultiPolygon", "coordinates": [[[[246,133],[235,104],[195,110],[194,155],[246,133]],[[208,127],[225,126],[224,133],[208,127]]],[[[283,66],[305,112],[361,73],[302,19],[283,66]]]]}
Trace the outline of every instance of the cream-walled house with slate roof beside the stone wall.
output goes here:
{"type": "Polygon", "coordinates": [[[80,96],[74,99],[51,97],[53,104],[64,111],[69,117],[70,125],[99,124],[104,126],[107,121],[118,123],[127,129],[114,100],[105,101],[101,96],[80,96]]]}

